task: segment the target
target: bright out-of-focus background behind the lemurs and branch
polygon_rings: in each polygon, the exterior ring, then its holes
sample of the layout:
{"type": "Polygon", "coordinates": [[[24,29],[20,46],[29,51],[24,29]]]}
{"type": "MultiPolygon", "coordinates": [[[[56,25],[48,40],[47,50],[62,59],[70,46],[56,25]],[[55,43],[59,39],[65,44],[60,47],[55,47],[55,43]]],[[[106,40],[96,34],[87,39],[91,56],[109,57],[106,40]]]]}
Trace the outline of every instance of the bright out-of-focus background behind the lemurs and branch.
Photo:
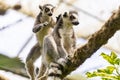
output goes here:
{"type": "MultiPolygon", "coordinates": [[[[56,7],[54,19],[65,11],[78,11],[80,24],[74,27],[78,46],[84,45],[89,36],[98,31],[120,6],[120,0],[0,0],[0,76],[3,75],[6,80],[28,80],[24,64],[15,63],[22,65],[15,69],[12,61],[25,62],[31,47],[36,43],[32,28],[40,11],[38,6],[46,3],[56,7]]],[[[100,54],[110,54],[111,51],[120,56],[120,31],[71,74],[85,77],[87,71],[107,66],[108,63],[100,54]]],[[[35,66],[40,66],[40,59],[35,66]]]]}

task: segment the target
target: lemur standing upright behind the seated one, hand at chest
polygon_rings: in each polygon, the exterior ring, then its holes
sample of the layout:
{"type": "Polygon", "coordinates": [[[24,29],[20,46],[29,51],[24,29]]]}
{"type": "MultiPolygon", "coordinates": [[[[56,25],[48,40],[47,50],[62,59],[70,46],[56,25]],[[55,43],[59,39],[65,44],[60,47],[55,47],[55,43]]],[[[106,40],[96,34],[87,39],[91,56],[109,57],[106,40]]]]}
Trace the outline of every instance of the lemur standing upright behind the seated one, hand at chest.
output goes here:
{"type": "Polygon", "coordinates": [[[26,69],[31,80],[35,80],[34,62],[38,59],[42,52],[43,39],[46,35],[52,32],[54,20],[52,18],[54,6],[51,4],[39,5],[41,10],[34,23],[33,32],[36,34],[37,43],[30,50],[26,58],[26,69]]]}

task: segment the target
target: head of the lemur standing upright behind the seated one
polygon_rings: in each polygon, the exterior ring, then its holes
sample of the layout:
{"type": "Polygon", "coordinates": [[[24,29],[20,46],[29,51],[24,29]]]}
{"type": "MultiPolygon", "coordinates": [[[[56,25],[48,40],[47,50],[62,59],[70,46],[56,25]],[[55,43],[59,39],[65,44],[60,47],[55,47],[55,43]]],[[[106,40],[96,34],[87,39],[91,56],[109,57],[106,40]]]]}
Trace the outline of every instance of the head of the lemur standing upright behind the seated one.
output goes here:
{"type": "Polygon", "coordinates": [[[51,4],[45,4],[44,6],[39,6],[39,8],[44,14],[52,16],[55,7],[51,4]]]}

